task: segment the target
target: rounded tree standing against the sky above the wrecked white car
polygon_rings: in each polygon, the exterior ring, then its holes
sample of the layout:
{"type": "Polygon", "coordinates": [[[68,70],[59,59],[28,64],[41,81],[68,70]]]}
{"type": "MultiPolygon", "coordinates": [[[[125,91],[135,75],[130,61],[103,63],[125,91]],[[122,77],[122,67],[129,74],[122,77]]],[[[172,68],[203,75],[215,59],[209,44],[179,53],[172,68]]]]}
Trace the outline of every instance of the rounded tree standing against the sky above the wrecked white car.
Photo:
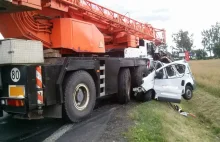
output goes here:
{"type": "Polygon", "coordinates": [[[188,31],[179,30],[179,32],[172,35],[173,41],[176,43],[176,47],[184,51],[191,51],[193,46],[193,34],[189,34],[188,31]]]}

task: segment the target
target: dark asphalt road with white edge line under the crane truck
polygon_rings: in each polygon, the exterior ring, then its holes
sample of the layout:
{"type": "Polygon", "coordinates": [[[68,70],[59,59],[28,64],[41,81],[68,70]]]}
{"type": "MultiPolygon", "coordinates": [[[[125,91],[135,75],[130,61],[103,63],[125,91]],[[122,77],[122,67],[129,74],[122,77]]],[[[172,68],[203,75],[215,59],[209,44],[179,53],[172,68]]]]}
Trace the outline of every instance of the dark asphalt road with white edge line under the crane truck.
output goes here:
{"type": "Polygon", "coordinates": [[[87,120],[75,124],[61,119],[20,120],[5,113],[0,118],[0,142],[96,142],[117,108],[120,105],[102,102],[87,120]]]}

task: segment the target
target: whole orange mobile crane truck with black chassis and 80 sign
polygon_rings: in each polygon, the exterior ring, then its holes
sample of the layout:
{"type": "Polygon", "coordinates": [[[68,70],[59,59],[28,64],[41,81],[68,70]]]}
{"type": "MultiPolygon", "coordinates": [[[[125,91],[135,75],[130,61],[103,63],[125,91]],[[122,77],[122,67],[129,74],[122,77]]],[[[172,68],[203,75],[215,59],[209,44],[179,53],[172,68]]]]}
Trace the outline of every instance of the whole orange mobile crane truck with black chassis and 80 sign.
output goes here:
{"type": "Polygon", "coordinates": [[[71,122],[97,98],[128,103],[166,42],[165,30],[89,0],[1,0],[0,33],[0,112],[71,122]]]}

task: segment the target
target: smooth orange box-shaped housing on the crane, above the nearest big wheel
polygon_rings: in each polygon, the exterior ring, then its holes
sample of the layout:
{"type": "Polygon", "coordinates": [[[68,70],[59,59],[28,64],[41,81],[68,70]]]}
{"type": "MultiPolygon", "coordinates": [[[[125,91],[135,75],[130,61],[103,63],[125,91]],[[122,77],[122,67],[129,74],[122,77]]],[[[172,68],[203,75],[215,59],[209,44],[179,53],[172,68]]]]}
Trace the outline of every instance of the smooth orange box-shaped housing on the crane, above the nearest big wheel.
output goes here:
{"type": "Polygon", "coordinates": [[[53,48],[66,48],[76,52],[104,53],[104,36],[91,23],[71,18],[51,21],[53,48]]]}

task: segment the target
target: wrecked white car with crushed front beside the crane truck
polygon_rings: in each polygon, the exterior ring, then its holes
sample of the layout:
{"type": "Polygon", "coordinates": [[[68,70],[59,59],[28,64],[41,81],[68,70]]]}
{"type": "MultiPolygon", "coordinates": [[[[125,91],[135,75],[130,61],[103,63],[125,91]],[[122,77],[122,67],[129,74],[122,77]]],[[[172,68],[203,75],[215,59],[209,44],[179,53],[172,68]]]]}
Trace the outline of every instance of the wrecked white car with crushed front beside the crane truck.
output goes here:
{"type": "Polygon", "coordinates": [[[195,89],[195,80],[190,66],[184,60],[168,64],[155,62],[155,69],[133,91],[137,99],[180,103],[183,97],[190,100],[195,89]]]}

